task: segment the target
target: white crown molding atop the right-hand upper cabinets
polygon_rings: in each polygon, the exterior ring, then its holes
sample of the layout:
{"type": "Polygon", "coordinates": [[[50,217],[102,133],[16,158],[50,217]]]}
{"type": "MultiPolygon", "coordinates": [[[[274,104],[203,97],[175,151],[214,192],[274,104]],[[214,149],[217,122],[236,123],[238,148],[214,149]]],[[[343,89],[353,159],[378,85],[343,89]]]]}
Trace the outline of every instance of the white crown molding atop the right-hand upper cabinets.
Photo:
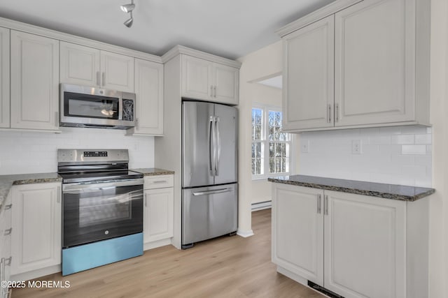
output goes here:
{"type": "Polygon", "coordinates": [[[286,36],[289,33],[321,20],[324,17],[328,17],[328,15],[337,13],[339,10],[352,6],[360,1],[363,0],[336,0],[326,6],[323,6],[323,8],[319,8],[318,10],[305,15],[304,17],[300,17],[300,19],[295,20],[294,22],[290,22],[286,26],[283,26],[279,30],[275,31],[275,33],[279,34],[280,37],[286,36]]]}

